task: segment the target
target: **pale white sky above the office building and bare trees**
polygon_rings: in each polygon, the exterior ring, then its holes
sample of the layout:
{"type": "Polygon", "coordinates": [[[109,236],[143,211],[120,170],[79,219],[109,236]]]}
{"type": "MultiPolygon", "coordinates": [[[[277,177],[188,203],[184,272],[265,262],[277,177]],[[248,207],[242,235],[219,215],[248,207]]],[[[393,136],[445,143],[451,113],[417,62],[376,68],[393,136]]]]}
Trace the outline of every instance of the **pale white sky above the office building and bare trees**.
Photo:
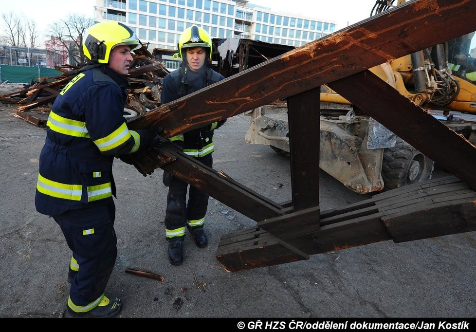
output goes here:
{"type": "MultiPolygon", "coordinates": [[[[272,11],[300,14],[310,18],[332,20],[337,30],[370,16],[375,0],[250,0],[272,11]]],[[[95,0],[0,0],[0,14],[13,12],[34,19],[41,35],[48,24],[68,14],[93,16],[95,0]]]]}

